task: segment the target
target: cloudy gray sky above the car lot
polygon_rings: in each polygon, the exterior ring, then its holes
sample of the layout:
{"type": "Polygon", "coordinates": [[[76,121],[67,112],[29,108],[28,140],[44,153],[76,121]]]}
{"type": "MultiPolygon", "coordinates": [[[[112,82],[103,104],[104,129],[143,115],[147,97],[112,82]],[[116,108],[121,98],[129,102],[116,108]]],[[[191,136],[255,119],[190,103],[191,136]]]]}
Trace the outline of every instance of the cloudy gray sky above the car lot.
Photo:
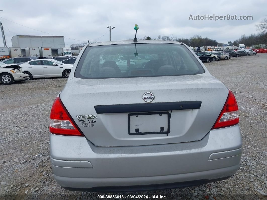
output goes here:
{"type": "MultiPolygon", "coordinates": [[[[135,24],[139,25],[137,37],[140,38],[170,34],[178,38],[189,38],[199,35],[226,44],[227,41],[238,39],[242,34],[258,33],[255,25],[267,18],[266,8],[266,0],[2,0],[0,10],[3,11],[0,11],[0,20],[7,46],[11,46],[11,38],[14,35],[64,36],[65,45],[87,41],[87,38],[90,42],[108,41],[108,25],[115,26],[111,31],[111,40],[127,40],[134,37],[135,24]],[[253,20],[189,20],[190,14],[229,14],[237,17],[252,15],[253,20]]],[[[0,38],[0,46],[2,45],[0,38]]]]}

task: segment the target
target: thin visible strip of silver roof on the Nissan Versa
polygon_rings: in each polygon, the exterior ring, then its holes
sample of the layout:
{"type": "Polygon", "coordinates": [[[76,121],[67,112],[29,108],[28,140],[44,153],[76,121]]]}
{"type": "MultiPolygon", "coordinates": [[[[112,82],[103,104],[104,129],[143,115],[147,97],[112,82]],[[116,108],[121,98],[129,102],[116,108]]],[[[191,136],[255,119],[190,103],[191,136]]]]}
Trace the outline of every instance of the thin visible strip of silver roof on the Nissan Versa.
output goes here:
{"type": "Polygon", "coordinates": [[[109,41],[109,42],[95,42],[95,43],[90,43],[87,46],[100,46],[100,45],[112,45],[112,44],[146,44],[146,43],[183,44],[182,42],[168,41],[168,40],[138,40],[137,42],[133,42],[132,40],[120,40],[120,41],[109,41]]]}

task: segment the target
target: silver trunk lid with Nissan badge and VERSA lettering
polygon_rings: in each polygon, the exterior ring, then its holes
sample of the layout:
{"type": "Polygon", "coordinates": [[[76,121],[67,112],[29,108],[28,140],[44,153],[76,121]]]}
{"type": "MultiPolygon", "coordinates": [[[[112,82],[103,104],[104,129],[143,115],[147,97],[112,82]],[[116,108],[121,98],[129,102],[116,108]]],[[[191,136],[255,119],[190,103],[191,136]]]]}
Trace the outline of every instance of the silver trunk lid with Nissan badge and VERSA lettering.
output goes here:
{"type": "Polygon", "coordinates": [[[83,134],[96,146],[138,146],[201,140],[218,118],[227,95],[225,85],[204,73],[73,78],[60,98],[83,134]],[[142,98],[146,92],[146,96],[155,96],[151,103],[142,98]]]}

